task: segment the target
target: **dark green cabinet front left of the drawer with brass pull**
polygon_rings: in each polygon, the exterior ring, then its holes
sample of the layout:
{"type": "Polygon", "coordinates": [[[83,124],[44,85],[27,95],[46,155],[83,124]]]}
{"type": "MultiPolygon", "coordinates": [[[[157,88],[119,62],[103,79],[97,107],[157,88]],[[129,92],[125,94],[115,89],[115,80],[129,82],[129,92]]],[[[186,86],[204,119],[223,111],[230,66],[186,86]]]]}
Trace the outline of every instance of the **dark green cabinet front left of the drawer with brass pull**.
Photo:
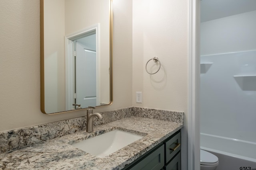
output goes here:
{"type": "Polygon", "coordinates": [[[160,170],[164,166],[164,145],[156,149],[138,164],[130,168],[131,170],[160,170]]]}

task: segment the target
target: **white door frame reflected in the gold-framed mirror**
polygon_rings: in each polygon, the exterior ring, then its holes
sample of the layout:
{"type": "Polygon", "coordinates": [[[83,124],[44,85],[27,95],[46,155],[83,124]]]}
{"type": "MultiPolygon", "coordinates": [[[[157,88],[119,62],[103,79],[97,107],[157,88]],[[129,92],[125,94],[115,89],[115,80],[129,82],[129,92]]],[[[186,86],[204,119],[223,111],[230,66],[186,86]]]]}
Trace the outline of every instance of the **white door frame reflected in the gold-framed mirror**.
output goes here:
{"type": "MultiPolygon", "coordinates": [[[[98,64],[100,63],[100,59],[98,56],[98,49],[99,47],[99,30],[100,24],[92,25],[91,27],[85,28],[83,30],[77,31],[75,33],[71,33],[67,36],[65,36],[65,45],[66,45],[66,110],[72,110],[76,109],[72,104],[79,104],[82,108],[87,108],[88,106],[100,106],[98,104],[99,98],[100,98],[100,84],[97,78],[100,78],[100,68],[98,64]],[[79,68],[77,67],[77,59],[78,58],[78,52],[75,47],[76,41],[79,39],[82,39],[84,37],[88,37],[90,35],[96,35],[96,41],[95,41],[95,52],[96,52],[96,94],[93,95],[96,98],[96,103],[92,104],[94,102],[89,102],[87,107],[84,107],[84,104],[77,101],[77,98],[79,92],[77,91],[77,88],[79,84],[77,84],[76,74],[79,74],[77,70],[79,68]],[[76,51],[76,52],[74,52],[76,51]],[[76,54],[74,54],[76,53],[76,54]]],[[[94,48],[94,47],[93,47],[94,48]]],[[[91,81],[91,80],[86,80],[91,81]]],[[[79,81],[81,82],[81,81],[79,81]]],[[[86,96],[84,96],[86,98],[86,96]]]]}

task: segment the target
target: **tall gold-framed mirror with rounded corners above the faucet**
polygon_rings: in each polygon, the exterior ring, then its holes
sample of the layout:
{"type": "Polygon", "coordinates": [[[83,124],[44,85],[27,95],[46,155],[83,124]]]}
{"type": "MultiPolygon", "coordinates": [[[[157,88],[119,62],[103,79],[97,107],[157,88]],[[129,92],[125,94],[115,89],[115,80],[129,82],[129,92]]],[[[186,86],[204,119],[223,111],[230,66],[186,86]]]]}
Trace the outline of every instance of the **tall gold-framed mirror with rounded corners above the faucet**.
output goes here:
{"type": "Polygon", "coordinates": [[[41,111],[112,104],[112,0],[40,0],[41,111]]]}

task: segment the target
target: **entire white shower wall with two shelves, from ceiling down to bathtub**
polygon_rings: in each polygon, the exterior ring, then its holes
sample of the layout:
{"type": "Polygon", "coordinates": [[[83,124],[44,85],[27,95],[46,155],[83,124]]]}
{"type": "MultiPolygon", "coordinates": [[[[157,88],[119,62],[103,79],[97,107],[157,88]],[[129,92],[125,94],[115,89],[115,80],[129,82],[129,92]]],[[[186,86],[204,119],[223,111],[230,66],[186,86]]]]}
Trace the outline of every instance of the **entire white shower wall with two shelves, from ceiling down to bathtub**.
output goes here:
{"type": "Polygon", "coordinates": [[[201,133],[256,143],[255,18],[252,11],[201,23],[201,63],[212,63],[201,64],[201,133]]]}

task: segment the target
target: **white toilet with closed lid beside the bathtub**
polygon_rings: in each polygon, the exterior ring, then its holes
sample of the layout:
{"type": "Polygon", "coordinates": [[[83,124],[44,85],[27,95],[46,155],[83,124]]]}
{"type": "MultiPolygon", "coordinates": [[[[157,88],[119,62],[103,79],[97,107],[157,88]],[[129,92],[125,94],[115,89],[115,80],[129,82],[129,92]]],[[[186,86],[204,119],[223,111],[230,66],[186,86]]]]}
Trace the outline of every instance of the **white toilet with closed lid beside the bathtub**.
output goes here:
{"type": "Polygon", "coordinates": [[[216,170],[218,164],[217,156],[200,149],[200,170],[216,170]]]}

